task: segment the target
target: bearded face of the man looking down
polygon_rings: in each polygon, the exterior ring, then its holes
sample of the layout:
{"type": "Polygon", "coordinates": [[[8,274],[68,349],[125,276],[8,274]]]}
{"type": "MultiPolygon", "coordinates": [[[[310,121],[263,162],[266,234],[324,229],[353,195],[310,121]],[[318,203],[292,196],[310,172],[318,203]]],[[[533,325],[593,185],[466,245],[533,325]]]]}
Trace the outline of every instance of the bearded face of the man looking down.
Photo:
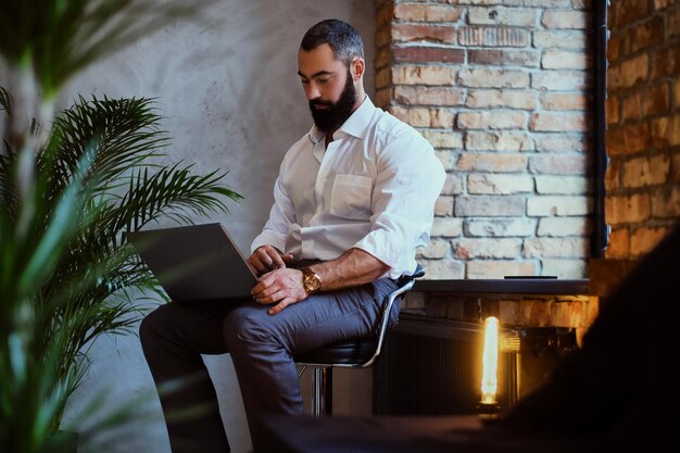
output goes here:
{"type": "Polygon", "coordinates": [[[325,133],[338,129],[356,104],[356,89],[350,68],[333,59],[328,45],[308,52],[300,50],[298,63],[298,74],[316,127],[325,133]]]}

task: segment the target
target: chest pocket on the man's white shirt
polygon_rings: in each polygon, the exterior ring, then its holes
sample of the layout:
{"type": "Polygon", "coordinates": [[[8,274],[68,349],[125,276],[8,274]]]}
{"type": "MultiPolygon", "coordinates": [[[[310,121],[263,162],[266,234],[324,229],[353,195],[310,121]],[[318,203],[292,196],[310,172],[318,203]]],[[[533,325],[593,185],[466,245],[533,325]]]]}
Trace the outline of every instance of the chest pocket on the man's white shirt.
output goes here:
{"type": "Polygon", "coordinates": [[[373,179],[360,175],[336,175],[330,194],[330,212],[352,219],[370,216],[373,179]]]}

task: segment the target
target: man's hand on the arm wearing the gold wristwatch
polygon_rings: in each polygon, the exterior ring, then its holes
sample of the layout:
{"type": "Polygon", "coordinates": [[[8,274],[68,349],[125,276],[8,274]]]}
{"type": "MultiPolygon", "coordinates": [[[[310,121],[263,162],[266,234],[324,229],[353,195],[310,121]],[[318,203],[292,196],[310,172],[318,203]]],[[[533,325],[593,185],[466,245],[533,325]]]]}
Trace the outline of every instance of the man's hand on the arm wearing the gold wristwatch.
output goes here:
{"type": "Polygon", "coordinates": [[[270,315],[307,298],[302,286],[302,270],[293,268],[279,268],[263,275],[251,294],[262,305],[276,303],[267,311],[270,315]]]}

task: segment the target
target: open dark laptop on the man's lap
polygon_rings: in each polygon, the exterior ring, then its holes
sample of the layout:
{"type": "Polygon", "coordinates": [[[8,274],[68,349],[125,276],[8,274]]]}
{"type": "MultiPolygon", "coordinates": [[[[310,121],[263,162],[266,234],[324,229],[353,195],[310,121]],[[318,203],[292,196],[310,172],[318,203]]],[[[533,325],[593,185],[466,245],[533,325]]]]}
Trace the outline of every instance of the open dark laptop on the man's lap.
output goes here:
{"type": "Polygon", "coordinates": [[[257,284],[222,224],[135,231],[128,240],[173,301],[249,298],[257,284]]]}

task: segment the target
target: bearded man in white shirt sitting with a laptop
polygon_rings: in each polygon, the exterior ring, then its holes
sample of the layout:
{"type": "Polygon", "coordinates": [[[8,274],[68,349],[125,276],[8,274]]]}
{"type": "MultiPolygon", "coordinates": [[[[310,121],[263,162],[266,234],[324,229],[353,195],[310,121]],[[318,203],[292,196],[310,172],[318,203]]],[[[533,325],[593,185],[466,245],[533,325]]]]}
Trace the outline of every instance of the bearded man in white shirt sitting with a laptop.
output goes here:
{"type": "Polygon", "coordinates": [[[252,299],[172,302],[140,327],[156,385],[199,376],[160,392],[174,453],[229,450],[201,354],[231,354],[257,451],[259,417],[303,412],[292,356],[373,335],[387,295],[429,242],[445,172],[418,131],[366,96],[360,34],[323,21],[304,35],[298,63],[314,125],[284,158],[252,242],[252,299]],[[169,416],[197,404],[200,416],[169,416]]]}

